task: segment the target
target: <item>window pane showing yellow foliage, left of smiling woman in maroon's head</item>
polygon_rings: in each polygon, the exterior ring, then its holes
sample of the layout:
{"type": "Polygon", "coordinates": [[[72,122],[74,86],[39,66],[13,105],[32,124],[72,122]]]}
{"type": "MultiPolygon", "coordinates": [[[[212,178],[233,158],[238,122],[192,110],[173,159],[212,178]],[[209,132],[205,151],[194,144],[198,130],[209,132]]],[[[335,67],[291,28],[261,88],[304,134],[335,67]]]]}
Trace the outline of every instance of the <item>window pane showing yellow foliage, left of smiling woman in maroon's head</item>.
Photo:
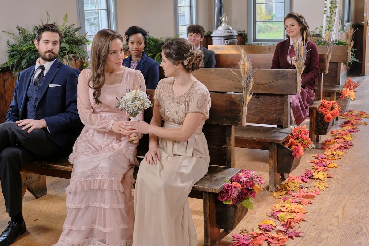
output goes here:
{"type": "Polygon", "coordinates": [[[256,21],[283,21],[284,4],[257,4],[256,21]]]}

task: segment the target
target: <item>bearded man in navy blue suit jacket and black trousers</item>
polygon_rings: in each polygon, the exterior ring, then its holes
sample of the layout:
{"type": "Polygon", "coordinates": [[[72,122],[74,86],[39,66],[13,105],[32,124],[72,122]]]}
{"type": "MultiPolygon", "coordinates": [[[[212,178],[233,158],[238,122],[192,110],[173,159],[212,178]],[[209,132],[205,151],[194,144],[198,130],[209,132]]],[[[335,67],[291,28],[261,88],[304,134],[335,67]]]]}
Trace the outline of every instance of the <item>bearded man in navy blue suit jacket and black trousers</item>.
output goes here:
{"type": "Polygon", "coordinates": [[[0,125],[0,180],[11,221],[0,246],[27,231],[22,214],[20,169],[35,159],[68,155],[82,129],[77,111],[79,70],[57,59],[62,34],[42,25],[34,41],[36,65],[19,73],[6,122],[0,125]]]}

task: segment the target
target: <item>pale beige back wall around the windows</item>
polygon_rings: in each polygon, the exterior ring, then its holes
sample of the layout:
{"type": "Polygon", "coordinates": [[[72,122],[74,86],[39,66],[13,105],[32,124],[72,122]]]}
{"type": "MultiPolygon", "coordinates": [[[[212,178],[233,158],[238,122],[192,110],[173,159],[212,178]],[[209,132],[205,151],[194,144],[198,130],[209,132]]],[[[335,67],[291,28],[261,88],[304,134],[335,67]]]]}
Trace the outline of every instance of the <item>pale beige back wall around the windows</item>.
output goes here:
{"type": "MultiPolygon", "coordinates": [[[[62,24],[63,16],[68,13],[69,23],[77,26],[77,0],[50,1],[38,0],[0,0],[0,31],[17,34],[16,26],[30,29],[33,24],[46,21],[46,11],[51,16],[50,22],[62,24]],[[40,7],[42,6],[42,7],[40,7]]],[[[354,23],[361,22],[363,16],[363,0],[354,0],[354,23]]],[[[197,23],[203,25],[205,31],[214,31],[214,0],[197,1],[197,23]]],[[[224,13],[228,15],[228,25],[235,31],[247,32],[247,2],[246,0],[224,0],[224,13]]],[[[309,4],[302,0],[292,1],[292,11],[304,15],[310,30],[323,25],[323,0],[309,0],[309,4]]],[[[154,37],[175,35],[174,0],[117,0],[118,32],[124,35],[128,27],[137,25],[144,28],[154,37]]],[[[7,61],[6,42],[10,37],[0,32],[0,63],[7,61]]]]}

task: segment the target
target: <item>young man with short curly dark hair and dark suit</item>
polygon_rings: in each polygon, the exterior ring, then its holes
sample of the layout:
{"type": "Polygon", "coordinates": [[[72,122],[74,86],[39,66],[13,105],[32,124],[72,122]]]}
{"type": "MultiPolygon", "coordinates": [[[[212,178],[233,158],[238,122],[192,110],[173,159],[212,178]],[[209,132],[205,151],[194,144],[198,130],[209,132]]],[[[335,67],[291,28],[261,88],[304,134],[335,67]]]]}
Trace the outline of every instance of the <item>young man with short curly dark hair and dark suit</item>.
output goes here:
{"type": "Polygon", "coordinates": [[[204,67],[215,67],[215,53],[205,47],[200,42],[204,39],[205,30],[202,25],[189,25],[187,27],[187,39],[193,44],[195,49],[200,49],[204,53],[204,67]]]}

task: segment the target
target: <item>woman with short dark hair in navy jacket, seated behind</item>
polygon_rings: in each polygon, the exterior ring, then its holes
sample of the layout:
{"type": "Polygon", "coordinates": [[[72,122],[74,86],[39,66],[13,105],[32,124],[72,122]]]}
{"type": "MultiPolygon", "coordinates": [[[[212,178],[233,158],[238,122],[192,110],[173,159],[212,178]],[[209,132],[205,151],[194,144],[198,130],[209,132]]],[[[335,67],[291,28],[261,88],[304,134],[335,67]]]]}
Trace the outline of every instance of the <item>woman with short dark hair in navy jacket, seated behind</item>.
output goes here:
{"type": "Polygon", "coordinates": [[[131,55],[123,60],[123,66],[140,70],[144,75],[146,89],[155,90],[159,82],[159,64],[149,58],[144,49],[146,48],[147,32],[140,27],[130,27],[124,34],[131,55]]]}

